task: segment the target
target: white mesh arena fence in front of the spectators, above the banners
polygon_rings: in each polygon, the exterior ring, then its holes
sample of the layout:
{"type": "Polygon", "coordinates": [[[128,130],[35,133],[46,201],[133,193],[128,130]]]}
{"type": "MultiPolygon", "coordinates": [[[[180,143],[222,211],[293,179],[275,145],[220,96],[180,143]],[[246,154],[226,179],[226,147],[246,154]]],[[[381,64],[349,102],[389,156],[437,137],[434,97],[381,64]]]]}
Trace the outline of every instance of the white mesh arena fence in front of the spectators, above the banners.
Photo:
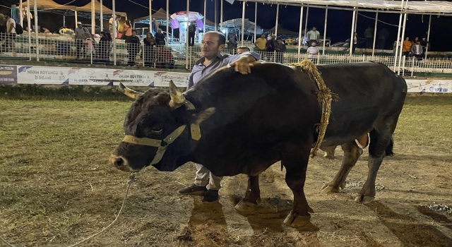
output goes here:
{"type": "MultiPolygon", "coordinates": [[[[253,49],[253,47],[250,47],[253,49]]],[[[235,54],[234,49],[225,49],[225,53],[235,54]]],[[[258,52],[265,61],[290,64],[307,58],[306,49],[298,52],[258,52]]],[[[61,63],[105,64],[117,66],[149,66],[153,68],[191,69],[201,58],[199,46],[186,48],[185,44],[169,46],[148,46],[139,43],[127,43],[124,40],[112,41],[99,38],[73,40],[66,35],[8,35],[0,33],[0,56],[2,59],[22,59],[53,61],[61,63]]],[[[368,56],[349,54],[318,54],[313,61],[316,64],[355,63],[376,61],[386,64],[393,71],[404,76],[416,73],[452,73],[452,59],[417,59],[403,56],[398,61],[395,56],[368,56]],[[397,61],[396,61],[397,60],[397,61]]]]}

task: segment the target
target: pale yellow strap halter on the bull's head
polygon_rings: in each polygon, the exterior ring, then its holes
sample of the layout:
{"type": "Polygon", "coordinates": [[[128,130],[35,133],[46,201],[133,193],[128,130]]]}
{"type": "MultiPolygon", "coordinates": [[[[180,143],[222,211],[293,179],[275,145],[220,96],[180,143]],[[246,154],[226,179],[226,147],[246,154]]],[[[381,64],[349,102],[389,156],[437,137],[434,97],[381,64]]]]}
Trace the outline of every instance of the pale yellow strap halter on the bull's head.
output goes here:
{"type": "MultiPolygon", "coordinates": [[[[195,109],[194,105],[189,102],[189,100],[185,100],[184,104],[188,109],[195,109]]],[[[163,154],[165,154],[165,151],[167,150],[167,147],[169,144],[174,142],[176,138],[179,137],[179,135],[184,132],[186,128],[186,125],[179,126],[179,128],[176,128],[172,133],[169,133],[166,138],[163,140],[159,139],[153,139],[153,138],[138,138],[133,135],[126,135],[124,136],[124,139],[122,140],[124,143],[133,143],[138,145],[145,145],[145,146],[151,146],[151,147],[157,147],[157,152],[155,153],[154,159],[152,162],[150,162],[150,165],[157,164],[160,162],[160,160],[163,157],[163,154]]],[[[201,129],[199,128],[198,123],[191,123],[190,124],[190,132],[191,132],[191,139],[193,140],[199,140],[201,139],[201,129]]]]}

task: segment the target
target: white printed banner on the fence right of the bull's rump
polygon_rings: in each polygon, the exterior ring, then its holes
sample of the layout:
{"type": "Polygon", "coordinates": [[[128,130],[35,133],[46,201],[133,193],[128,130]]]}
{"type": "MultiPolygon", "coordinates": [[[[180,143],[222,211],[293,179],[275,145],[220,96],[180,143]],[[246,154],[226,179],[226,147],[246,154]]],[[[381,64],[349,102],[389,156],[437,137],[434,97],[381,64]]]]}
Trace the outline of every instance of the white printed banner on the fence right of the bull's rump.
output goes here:
{"type": "Polygon", "coordinates": [[[452,92],[452,80],[405,79],[408,92],[452,92]]]}

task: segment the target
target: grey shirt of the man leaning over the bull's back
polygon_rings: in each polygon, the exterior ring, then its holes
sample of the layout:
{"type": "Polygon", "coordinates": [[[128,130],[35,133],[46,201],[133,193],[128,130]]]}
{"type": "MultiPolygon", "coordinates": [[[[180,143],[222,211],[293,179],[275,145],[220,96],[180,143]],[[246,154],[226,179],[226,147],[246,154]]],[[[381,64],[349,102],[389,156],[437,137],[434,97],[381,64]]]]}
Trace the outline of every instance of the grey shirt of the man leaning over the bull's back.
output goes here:
{"type": "Polygon", "coordinates": [[[189,78],[189,85],[186,87],[187,90],[189,90],[191,87],[196,85],[202,78],[207,76],[208,74],[212,73],[213,71],[217,70],[218,68],[221,68],[222,66],[226,66],[227,64],[232,64],[234,61],[237,61],[241,56],[244,55],[251,55],[254,56],[254,59],[259,60],[261,59],[261,55],[254,53],[254,52],[244,52],[239,55],[222,55],[218,54],[215,59],[208,64],[208,66],[204,66],[203,62],[205,61],[204,58],[199,59],[195,62],[195,66],[193,66],[193,69],[191,70],[191,75],[189,78]]]}

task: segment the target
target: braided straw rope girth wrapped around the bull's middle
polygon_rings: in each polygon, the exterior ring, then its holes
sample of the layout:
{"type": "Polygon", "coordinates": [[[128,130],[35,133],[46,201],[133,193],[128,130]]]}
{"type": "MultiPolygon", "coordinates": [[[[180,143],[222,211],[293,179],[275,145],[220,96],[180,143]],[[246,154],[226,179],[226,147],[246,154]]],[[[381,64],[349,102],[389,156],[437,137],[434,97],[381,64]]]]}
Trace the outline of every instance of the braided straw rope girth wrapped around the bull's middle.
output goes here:
{"type": "Polygon", "coordinates": [[[311,158],[316,157],[317,151],[319,151],[320,145],[323,141],[323,137],[325,137],[326,127],[328,126],[328,122],[331,114],[331,101],[338,101],[339,96],[326,87],[323,82],[323,78],[319,72],[319,69],[312,63],[311,59],[303,59],[303,61],[299,63],[289,64],[289,66],[295,66],[296,68],[301,68],[305,71],[309,78],[314,79],[317,83],[317,87],[319,90],[316,90],[317,100],[322,104],[322,116],[320,119],[320,123],[316,124],[316,131],[319,133],[319,137],[317,138],[316,145],[311,150],[311,158]]]}

